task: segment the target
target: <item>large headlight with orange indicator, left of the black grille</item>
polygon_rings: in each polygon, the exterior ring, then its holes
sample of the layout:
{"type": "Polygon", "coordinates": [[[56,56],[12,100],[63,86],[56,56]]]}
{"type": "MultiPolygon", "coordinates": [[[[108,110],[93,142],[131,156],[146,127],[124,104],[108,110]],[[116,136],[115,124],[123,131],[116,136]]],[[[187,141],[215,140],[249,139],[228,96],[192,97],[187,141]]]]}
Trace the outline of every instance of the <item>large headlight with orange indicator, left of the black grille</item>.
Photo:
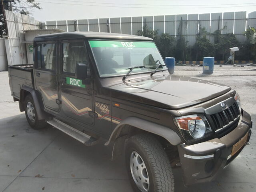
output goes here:
{"type": "Polygon", "coordinates": [[[202,115],[189,115],[175,118],[184,138],[188,141],[198,139],[212,132],[208,121],[202,115]]]}

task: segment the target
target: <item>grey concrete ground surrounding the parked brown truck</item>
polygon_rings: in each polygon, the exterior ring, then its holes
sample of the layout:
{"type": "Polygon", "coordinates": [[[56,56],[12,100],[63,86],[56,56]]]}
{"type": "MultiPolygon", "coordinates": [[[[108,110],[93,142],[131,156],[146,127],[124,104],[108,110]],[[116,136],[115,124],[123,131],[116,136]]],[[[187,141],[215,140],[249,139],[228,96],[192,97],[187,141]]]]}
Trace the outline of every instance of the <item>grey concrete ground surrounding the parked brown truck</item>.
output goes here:
{"type": "MultiPolygon", "coordinates": [[[[196,76],[236,89],[254,125],[250,145],[213,182],[188,188],[180,168],[174,168],[176,191],[256,191],[256,68],[216,66],[176,67],[176,75],[196,76]]],[[[123,159],[111,162],[111,147],[103,141],[86,147],[55,128],[33,130],[18,103],[12,102],[8,72],[0,72],[0,192],[131,192],[123,159]]]]}

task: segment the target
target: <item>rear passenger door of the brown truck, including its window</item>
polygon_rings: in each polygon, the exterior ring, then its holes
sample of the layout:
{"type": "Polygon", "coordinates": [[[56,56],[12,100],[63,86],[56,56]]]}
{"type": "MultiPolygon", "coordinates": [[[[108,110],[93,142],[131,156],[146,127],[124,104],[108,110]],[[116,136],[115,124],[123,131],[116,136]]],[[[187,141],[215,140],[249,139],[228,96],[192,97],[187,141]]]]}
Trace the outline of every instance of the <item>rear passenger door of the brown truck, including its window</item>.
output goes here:
{"type": "Polygon", "coordinates": [[[36,89],[42,96],[44,108],[58,112],[60,105],[57,81],[57,43],[38,42],[35,49],[34,77],[36,89]]]}

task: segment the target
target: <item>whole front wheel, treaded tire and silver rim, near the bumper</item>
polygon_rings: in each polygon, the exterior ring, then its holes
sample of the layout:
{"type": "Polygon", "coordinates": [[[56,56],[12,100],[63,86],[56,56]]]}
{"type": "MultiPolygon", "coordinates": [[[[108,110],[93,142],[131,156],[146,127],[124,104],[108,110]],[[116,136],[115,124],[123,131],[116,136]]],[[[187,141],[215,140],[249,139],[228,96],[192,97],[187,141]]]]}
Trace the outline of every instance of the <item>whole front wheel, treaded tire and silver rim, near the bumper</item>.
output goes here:
{"type": "Polygon", "coordinates": [[[170,161],[155,136],[139,134],[129,138],[125,158],[134,192],[174,192],[170,161]]]}

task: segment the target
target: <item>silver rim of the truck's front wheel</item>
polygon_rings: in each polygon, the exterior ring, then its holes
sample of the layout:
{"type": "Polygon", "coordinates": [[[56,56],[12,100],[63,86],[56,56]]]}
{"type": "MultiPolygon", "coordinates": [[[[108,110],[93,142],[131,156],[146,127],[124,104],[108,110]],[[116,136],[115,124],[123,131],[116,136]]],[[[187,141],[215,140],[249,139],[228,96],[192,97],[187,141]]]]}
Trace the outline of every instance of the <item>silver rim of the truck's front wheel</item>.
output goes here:
{"type": "Polygon", "coordinates": [[[138,152],[133,151],[130,157],[130,169],[132,178],[137,185],[137,187],[142,192],[148,192],[149,190],[149,178],[148,178],[148,170],[144,163],[144,160],[138,154],[138,152]]]}

